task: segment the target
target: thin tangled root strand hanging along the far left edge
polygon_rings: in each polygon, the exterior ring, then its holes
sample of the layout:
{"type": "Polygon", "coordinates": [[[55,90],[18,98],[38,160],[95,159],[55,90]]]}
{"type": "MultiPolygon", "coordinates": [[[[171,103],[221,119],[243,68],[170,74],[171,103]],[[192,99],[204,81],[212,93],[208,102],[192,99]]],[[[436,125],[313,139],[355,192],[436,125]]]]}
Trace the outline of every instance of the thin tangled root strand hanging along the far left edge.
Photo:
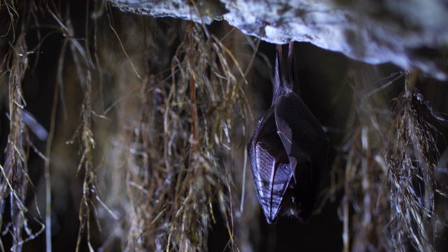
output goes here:
{"type": "MultiPolygon", "coordinates": [[[[6,55],[3,55],[3,61],[0,64],[0,83],[8,76],[8,95],[5,97],[8,101],[8,120],[9,134],[6,144],[6,150],[1,150],[4,155],[4,163],[0,165],[0,227],[1,235],[10,235],[12,237],[11,251],[21,251],[26,241],[36,238],[44,230],[40,216],[31,216],[29,209],[25,205],[25,197],[30,186],[28,176],[27,160],[30,147],[36,150],[35,146],[29,140],[27,125],[33,130],[32,122],[24,109],[26,106],[22,94],[22,81],[29,67],[29,52],[26,42],[28,18],[19,18],[15,1],[0,1],[1,15],[8,14],[10,22],[6,31],[2,30],[2,36],[8,38],[8,45],[0,43],[3,48],[9,48],[6,55]],[[3,33],[6,32],[6,33],[3,33]],[[24,117],[26,120],[24,120],[24,117]],[[5,209],[9,212],[5,212],[5,209]],[[4,223],[4,218],[9,215],[10,222],[4,223]],[[30,223],[36,221],[41,226],[40,230],[31,230],[30,223]],[[24,232],[25,231],[25,232],[24,232]]],[[[22,8],[18,9],[23,13],[33,13],[34,3],[24,3],[22,8]]],[[[2,127],[6,127],[1,125],[2,127]]],[[[38,125],[40,127],[40,125],[38,125]]],[[[41,153],[38,153],[42,156],[41,153]]],[[[3,242],[0,240],[1,251],[6,251],[3,242]]]]}

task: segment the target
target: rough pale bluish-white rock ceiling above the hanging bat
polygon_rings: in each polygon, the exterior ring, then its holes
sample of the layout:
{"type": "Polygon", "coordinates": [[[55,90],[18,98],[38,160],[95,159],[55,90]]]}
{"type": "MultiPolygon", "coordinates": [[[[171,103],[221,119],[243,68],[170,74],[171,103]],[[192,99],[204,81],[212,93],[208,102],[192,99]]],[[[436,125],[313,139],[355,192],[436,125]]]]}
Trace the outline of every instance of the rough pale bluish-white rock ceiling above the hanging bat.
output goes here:
{"type": "Polygon", "coordinates": [[[272,43],[308,41],[372,64],[448,77],[445,0],[109,0],[121,10],[209,24],[227,20],[272,43]]]}

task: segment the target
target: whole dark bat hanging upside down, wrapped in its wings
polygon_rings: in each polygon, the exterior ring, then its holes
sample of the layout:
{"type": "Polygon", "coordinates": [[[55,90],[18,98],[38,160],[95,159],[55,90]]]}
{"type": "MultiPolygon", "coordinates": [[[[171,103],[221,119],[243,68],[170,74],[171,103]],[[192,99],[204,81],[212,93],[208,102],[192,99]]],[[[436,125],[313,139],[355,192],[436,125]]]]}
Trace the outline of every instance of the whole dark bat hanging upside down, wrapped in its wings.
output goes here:
{"type": "Polygon", "coordinates": [[[326,170],[328,138],[300,97],[293,57],[293,42],[287,63],[277,45],[272,105],[248,144],[253,182],[267,223],[282,215],[307,223],[326,170]]]}

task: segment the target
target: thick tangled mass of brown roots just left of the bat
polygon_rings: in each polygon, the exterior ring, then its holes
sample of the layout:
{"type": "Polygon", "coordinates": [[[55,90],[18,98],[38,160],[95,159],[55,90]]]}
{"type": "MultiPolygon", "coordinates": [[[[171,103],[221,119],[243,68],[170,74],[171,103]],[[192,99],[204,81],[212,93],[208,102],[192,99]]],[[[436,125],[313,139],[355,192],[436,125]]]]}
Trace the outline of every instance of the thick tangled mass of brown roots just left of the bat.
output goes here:
{"type": "MultiPolygon", "coordinates": [[[[157,27],[158,22],[163,20],[149,20],[143,29],[157,27]]],[[[207,27],[193,22],[171,25],[181,25],[186,32],[171,64],[165,62],[170,71],[160,71],[163,65],[157,61],[172,44],[159,44],[149,36],[139,45],[144,53],[127,50],[125,55],[133,62],[130,68],[146,71],[139,74],[146,76],[144,80],[134,74],[118,81],[118,97],[127,92],[134,98],[125,97],[122,109],[117,108],[126,126],[111,149],[116,159],[110,173],[126,190],[109,196],[121,199],[111,204],[126,216],[116,228],[126,233],[122,244],[128,250],[207,250],[209,230],[219,212],[229,244],[235,244],[231,197],[237,147],[232,137],[237,119],[246,118],[246,84],[240,81],[244,74],[235,56],[207,27]],[[135,64],[141,55],[146,69],[135,64]]],[[[160,32],[157,29],[153,31],[160,32]]],[[[174,41],[176,35],[162,36],[174,41]]]]}

